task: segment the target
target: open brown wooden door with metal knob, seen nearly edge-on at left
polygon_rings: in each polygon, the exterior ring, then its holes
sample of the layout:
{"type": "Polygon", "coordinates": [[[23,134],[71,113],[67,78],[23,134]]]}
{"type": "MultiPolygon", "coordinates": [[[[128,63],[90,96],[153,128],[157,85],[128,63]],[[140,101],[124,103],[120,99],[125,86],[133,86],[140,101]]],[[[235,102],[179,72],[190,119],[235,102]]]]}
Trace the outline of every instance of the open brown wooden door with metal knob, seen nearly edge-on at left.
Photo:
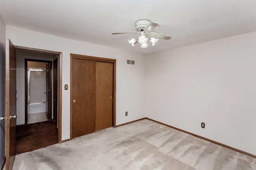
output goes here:
{"type": "Polygon", "coordinates": [[[6,38],[6,170],[12,170],[16,153],[16,49],[6,38]]]}

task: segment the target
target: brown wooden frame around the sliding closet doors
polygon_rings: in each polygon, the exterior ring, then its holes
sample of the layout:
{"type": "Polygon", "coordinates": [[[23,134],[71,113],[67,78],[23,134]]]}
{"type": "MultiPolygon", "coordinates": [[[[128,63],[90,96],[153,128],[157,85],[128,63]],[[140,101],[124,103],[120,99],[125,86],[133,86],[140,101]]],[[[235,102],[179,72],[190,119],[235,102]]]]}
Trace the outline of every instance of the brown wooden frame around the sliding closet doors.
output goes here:
{"type": "Polygon", "coordinates": [[[79,54],[70,54],[70,139],[73,137],[73,59],[81,59],[81,60],[92,60],[97,62],[108,62],[113,63],[113,102],[112,102],[112,126],[116,127],[116,59],[111,58],[101,58],[101,57],[94,57],[94,56],[84,56],[79,54]]]}

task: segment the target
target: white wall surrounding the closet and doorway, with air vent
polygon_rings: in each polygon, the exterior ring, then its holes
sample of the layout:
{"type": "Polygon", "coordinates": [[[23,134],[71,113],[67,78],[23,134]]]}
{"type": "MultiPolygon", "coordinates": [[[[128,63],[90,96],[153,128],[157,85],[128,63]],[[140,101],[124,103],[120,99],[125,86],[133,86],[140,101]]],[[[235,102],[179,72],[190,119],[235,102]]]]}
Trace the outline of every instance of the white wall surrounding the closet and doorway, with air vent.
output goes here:
{"type": "Polygon", "coordinates": [[[146,56],[40,32],[6,26],[14,45],[62,52],[62,140],[70,138],[70,53],[116,59],[116,125],[145,117],[146,56]],[[135,60],[135,65],[126,60],[135,60]],[[128,111],[128,116],[125,112],[128,111]]]}

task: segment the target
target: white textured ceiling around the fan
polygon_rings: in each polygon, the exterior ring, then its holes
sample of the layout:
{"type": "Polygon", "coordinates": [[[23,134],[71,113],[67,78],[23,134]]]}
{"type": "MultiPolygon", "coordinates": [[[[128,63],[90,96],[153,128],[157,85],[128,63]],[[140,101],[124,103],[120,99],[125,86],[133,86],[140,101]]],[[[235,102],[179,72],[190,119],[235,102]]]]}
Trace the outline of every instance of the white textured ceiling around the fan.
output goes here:
{"type": "Polygon", "coordinates": [[[6,25],[74,40],[150,54],[256,31],[256,0],[0,0],[6,25]],[[148,48],[132,47],[135,22],[162,26],[172,36],[148,48]]]}

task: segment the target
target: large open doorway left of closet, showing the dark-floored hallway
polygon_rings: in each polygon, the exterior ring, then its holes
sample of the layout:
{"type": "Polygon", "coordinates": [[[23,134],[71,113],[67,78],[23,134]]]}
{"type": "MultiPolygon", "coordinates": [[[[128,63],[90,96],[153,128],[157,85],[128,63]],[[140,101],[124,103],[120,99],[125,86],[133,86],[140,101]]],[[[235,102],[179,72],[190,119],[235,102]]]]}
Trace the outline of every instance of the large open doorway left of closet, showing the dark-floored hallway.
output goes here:
{"type": "Polygon", "coordinates": [[[15,47],[19,154],[62,142],[62,53],[15,47]]]}

